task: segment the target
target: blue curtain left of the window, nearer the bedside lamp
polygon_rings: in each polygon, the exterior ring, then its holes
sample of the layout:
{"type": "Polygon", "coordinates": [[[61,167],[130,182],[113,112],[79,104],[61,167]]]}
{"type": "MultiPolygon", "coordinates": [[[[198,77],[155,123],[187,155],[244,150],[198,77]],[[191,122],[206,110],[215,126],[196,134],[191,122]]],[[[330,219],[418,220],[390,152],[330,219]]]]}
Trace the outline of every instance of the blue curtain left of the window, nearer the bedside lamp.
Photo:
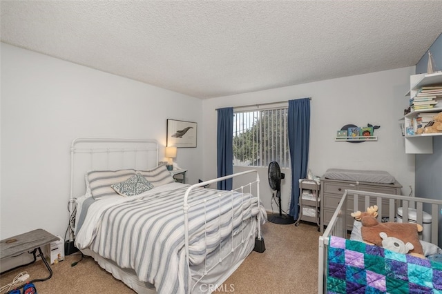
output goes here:
{"type": "MultiPolygon", "coordinates": [[[[218,109],[218,177],[233,174],[233,107],[218,109]]],[[[231,190],[232,179],[218,182],[219,190],[231,190]]]]}

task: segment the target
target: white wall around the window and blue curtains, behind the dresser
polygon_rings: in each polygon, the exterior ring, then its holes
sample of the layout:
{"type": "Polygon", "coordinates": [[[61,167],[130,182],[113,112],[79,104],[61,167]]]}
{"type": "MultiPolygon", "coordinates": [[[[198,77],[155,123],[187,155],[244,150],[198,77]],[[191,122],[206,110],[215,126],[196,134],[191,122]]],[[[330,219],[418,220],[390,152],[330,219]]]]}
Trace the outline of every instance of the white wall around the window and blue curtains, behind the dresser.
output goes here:
{"type": "MultiPolygon", "coordinates": [[[[405,155],[399,121],[407,107],[414,67],[374,72],[340,79],[289,86],[203,101],[204,175],[216,176],[216,108],[244,106],[311,97],[309,168],[323,175],[327,168],[387,170],[403,185],[403,195],[414,189],[414,155],[405,155]],[[346,124],[381,126],[378,141],[336,142],[336,130],[346,124]]],[[[288,171],[286,173],[289,175],[288,171]]],[[[262,202],[270,210],[267,169],[260,168],[262,202]]],[[[282,185],[282,208],[288,208],[290,187],[282,185]]],[[[273,206],[276,208],[276,206],[273,206]]]]}

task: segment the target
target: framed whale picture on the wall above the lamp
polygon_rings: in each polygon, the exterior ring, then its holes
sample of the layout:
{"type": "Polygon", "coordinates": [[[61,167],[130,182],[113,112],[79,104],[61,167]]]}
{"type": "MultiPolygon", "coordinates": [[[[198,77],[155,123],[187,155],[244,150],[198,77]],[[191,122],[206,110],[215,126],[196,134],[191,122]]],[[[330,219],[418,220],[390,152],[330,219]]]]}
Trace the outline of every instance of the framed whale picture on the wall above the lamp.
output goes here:
{"type": "Polygon", "coordinates": [[[167,119],[166,146],[177,148],[196,147],[197,123],[167,119]]]}

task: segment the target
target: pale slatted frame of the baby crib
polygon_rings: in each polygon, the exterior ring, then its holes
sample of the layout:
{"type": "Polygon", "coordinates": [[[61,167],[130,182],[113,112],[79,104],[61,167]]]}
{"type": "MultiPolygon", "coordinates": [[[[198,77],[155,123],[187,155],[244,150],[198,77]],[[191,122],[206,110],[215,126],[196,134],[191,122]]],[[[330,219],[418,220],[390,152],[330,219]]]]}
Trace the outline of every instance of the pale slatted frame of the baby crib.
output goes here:
{"type": "MultiPolygon", "coordinates": [[[[423,206],[426,209],[430,207],[432,215],[431,243],[438,244],[439,232],[439,211],[442,213],[442,200],[427,199],[419,197],[409,197],[393,194],[366,192],[361,190],[345,190],[343,197],[340,199],[332,219],[330,220],[324,234],[319,237],[318,246],[318,293],[326,293],[327,291],[327,258],[328,245],[331,236],[347,239],[347,199],[353,198],[354,210],[365,211],[367,207],[376,204],[378,206],[378,222],[382,221],[382,203],[383,199],[388,199],[389,211],[388,218],[395,219],[396,208],[403,207],[403,222],[408,222],[408,208],[416,209],[416,222],[423,224],[423,206]],[[364,207],[358,207],[359,199],[363,199],[364,207]]],[[[385,214],[384,214],[385,215],[385,214]]]]}

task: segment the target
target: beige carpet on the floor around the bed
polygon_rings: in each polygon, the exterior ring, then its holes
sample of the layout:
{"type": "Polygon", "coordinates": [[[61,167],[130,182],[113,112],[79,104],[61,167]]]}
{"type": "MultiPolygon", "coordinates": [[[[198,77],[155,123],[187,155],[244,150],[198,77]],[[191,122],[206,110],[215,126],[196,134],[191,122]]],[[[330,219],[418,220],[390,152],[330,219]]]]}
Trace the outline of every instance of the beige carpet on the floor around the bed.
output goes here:
{"type": "MultiPolygon", "coordinates": [[[[222,288],[230,293],[317,293],[320,235],[317,229],[307,222],[301,222],[300,226],[265,224],[262,226],[265,253],[252,252],[222,288]]],[[[37,292],[135,293],[100,268],[92,258],[70,266],[79,259],[79,255],[69,255],[63,262],[52,265],[52,278],[36,282],[37,292]]],[[[21,271],[27,271],[31,280],[48,275],[40,260],[1,275],[1,286],[12,282],[21,271]]]]}

